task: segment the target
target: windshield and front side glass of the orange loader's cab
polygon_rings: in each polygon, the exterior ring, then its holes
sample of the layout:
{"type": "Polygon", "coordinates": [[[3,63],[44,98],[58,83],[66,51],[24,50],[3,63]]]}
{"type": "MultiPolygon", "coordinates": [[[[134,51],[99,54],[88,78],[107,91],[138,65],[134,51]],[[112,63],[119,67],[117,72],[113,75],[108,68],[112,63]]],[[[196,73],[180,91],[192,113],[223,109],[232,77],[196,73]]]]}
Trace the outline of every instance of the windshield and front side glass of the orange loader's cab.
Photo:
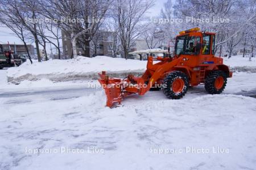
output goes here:
{"type": "Polygon", "coordinates": [[[176,39],[175,54],[195,55],[198,44],[200,44],[200,37],[179,36],[176,39]]]}

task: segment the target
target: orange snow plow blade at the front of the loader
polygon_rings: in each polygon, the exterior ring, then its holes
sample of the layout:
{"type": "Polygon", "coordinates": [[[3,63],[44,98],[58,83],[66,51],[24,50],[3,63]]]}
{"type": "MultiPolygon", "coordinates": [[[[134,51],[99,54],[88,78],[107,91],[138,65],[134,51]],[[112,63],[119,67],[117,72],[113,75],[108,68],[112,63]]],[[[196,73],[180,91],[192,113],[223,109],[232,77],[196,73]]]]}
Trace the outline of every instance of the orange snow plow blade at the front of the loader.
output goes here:
{"type": "Polygon", "coordinates": [[[105,71],[98,73],[100,75],[101,87],[104,88],[106,94],[106,107],[113,107],[114,103],[121,104],[122,101],[122,82],[121,79],[109,78],[105,71]]]}

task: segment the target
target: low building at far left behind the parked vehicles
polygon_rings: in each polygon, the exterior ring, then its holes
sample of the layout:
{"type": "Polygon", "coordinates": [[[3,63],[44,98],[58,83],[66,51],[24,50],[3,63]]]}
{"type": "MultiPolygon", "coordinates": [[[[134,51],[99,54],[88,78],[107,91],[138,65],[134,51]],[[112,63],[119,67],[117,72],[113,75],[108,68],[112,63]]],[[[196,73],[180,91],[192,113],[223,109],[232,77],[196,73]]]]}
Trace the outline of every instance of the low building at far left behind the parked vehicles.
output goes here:
{"type": "MultiPolygon", "coordinates": [[[[9,51],[9,45],[8,44],[0,44],[0,53],[4,51],[9,51]]],[[[27,50],[24,46],[24,44],[10,44],[11,50],[14,51],[15,54],[18,55],[27,55],[27,50]]],[[[27,45],[28,52],[30,53],[31,56],[34,56],[34,46],[33,45],[27,45]]]]}

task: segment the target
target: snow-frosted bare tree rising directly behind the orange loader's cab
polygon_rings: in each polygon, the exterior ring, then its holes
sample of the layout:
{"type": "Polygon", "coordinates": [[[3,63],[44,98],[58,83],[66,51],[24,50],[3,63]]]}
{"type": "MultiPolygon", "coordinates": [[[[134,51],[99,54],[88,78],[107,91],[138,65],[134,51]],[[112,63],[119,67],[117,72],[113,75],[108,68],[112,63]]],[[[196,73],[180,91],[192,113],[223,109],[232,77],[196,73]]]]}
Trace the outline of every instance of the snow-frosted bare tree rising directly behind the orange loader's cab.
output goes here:
{"type": "Polygon", "coordinates": [[[182,3],[175,6],[176,15],[184,17],[187,28],[200,27],[204,31],[216,33],[215,52],[226,42],[233,41],[245,25],[253,19],[251,16],[243,17],[243,7],[247,0],[179,0],[178,2],[182,3]],[[234,27],[236,27],[235,31],[228,33],[230,28],[234,27]]]}

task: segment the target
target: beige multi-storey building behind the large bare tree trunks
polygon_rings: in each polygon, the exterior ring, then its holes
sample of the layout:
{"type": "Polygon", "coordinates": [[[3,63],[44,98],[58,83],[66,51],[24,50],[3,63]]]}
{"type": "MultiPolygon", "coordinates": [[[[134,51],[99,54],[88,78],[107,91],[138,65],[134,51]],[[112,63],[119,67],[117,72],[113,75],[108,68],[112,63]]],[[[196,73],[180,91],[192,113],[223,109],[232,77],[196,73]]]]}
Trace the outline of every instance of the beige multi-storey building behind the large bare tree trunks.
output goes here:
{"type": "MultiPolygon", "coordinates": [[[[65,57],[70,58],[72,56],[72,43],[69,39],[68,33],[61,31],[63,54],[65,57]]],[[[112,32],[100,32],[97,35],[97,39],[90,41],[90,57],[94,56],[112,56],[112,50],[110,49],[112,32]]],[[[85,49],[83,45],[77,41],[76,43],[77,54],[85,56],[85,49]]]]}

